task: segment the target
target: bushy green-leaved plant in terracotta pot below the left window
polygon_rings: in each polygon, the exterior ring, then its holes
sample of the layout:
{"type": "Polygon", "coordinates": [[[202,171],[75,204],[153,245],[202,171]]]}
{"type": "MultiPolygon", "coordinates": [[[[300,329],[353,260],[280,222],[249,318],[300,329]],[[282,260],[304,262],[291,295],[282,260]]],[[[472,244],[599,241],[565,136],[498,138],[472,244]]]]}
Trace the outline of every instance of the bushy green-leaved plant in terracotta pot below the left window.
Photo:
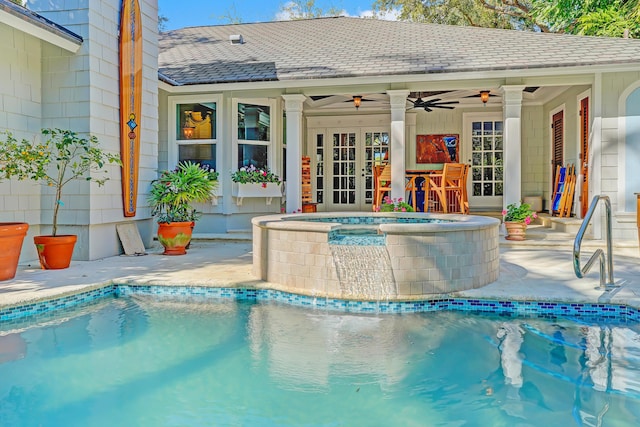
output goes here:
{"type": "Polygon", "coordinates": [[[208,200],[218,185],[218,173],[208,165],[181,162],[151,183],[149,204],[158,221],[158,240],[164,255],[184,255],[200,213],[194,202],[208,200]]]}

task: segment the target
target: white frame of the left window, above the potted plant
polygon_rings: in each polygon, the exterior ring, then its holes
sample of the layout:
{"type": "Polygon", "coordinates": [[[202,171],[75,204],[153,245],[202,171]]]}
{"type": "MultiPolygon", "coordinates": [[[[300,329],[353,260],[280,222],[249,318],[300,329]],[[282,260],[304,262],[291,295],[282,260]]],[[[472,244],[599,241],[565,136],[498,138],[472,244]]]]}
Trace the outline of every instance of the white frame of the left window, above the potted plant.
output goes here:
{"type": "MultiPolygon", "coordinates": [[[[221,144],[218,144],[220,135],[222,133],[222,95],[209,94],[209,95],[181,95],[169,97],[169,126],[167,129],[167,141],[168,141],[168,153],[167,162],[168,169],[172,169],[178,165],[178,146],[189,144],[213,144],[216,150],[216,171],[223,170],[222,160],[222,148],[221,144]],[[198,104],[198,103],[215,103],[215,124],[216,124],[216,137],[213,139],[178,139],[176,137],[175,125],[178,117],[176,117],[176,110],[179,104],[198,104]]],[[[213,119],[213,118],[212,118],[213,119]]],[[[180,118],[182,120],[182,117],[180,118]]]]}

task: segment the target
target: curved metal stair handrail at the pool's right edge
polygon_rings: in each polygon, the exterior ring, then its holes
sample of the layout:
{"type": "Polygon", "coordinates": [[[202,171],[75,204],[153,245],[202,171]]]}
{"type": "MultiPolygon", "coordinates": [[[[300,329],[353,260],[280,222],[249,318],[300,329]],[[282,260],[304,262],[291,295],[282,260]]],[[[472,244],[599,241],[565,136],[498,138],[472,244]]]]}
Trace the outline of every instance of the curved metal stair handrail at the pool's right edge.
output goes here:
{"type": "Polygon", "coordinates": [[[573,242],[573,269],[576,273],[576,276],[580,279],[584,277],[585,274],[591,270],[591,267],[595,263],[596,259],[600,260],[600,288],[604,289],[607,286],[613,287],[615,286],[613,282],[613,252],[611,250],[611,201],[609,200],[609,196],[594,196],[591,201],[591,205],[589,206],[589,210],[582,220],[582,225],[576,234],[576,238],[573,242]],[[607,254],[605,257],[605,253],[602,249],[598,248],[589,261],[584,265],[584,267],[580,268],[580,247],[582,245],[582,238],[584,237],[584,233],[587,230],[587,226],[589,225],[589,221],[593,216],[593,213],[598,206],[598,202],[600,200],[604,201],[605,213],[606,213],[606,240],[607,240],[607,254]],[[606,262],[605,262],[606,258],[606,262]],[[608,274],[605,274],[605,265],[606,270],[608,270],[608,274]],[[608,276],[608,282],[605,283],[605,275],[608,276]]]}

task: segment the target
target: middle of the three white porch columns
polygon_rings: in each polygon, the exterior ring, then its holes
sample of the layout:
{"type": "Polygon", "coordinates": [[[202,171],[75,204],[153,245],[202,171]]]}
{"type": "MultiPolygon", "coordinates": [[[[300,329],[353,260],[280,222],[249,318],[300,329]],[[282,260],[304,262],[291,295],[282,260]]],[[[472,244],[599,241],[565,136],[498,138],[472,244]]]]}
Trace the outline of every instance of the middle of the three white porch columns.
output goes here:
{"type": "Polygon", "coordinates": [[[391,104],[391,198],[404,198],[405,176],[405,111],[408,90],[388,90],[391,104]]]}

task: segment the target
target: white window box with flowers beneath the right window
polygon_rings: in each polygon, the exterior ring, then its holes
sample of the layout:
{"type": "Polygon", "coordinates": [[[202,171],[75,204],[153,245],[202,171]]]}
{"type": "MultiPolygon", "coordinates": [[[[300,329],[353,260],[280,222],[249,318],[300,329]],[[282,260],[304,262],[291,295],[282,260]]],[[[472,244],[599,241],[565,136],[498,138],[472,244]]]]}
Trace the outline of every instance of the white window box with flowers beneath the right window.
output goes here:
{"type": "Polygon", "coordinates": [[[266,197],[270,204],[271,198],[282,196],[280,177],[268,168],[242,167],[231,174],[231,181],[232,195],[237,198],[238,205],[242,205],[244,197],[266,197]]]}

